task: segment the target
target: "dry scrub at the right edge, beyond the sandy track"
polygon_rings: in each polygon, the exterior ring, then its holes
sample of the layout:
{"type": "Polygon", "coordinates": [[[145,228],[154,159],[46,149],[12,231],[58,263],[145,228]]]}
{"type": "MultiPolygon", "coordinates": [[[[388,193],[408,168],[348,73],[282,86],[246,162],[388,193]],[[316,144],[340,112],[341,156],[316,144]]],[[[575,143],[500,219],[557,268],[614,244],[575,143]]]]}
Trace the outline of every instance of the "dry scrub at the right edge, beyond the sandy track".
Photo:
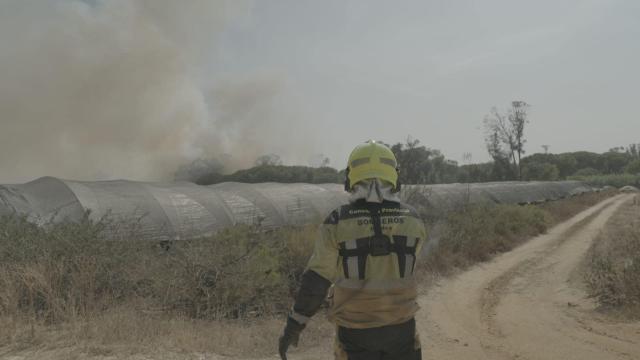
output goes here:
{"type": "Polygon", "coordinates": [[[640,197],[624,204],[587,256],[585,282],[603,309],[640,318],[640,197]]]}

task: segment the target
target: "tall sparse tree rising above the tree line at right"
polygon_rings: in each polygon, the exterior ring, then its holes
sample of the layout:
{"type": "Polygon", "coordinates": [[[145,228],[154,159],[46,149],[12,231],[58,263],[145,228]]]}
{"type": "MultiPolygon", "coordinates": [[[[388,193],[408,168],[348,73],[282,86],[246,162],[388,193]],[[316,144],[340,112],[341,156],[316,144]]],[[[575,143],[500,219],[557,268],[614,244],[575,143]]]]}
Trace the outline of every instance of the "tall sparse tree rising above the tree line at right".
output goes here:
{"type": "MultiPolygon", "coordinates": [[[[524,128],[528,122],[528,108],[529,104],[524,101],[513,101],[511,109],[506,114],[500,113],[497,108],[493,107],[491,113],[484,119],[487,133],[485,140],[488,144],[499,141],[507,147],[507,153],[518,179],[522,179],[520,160],[524,155],[524,144],[526,143],[524,128]]],[[[491,154],[491,150],[489,150],[489,154],[491,154]]]]}

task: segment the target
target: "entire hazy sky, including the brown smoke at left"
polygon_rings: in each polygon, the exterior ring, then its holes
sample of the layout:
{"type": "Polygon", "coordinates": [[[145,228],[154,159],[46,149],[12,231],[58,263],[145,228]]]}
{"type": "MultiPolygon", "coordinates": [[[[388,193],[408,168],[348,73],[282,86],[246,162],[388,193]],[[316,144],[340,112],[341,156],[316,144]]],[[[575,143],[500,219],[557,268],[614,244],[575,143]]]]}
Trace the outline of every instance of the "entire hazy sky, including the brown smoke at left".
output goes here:
{"type": "Polygon", "coordinates": [[[198,157],[341,167],[407,135],[485,161],[482,119],[532,105],[528,153],[638,142],[634,1],[0,4],[0,183],[169,179],[198,157]],[[224,154],[231,154],[230,156],[224,154]]]}

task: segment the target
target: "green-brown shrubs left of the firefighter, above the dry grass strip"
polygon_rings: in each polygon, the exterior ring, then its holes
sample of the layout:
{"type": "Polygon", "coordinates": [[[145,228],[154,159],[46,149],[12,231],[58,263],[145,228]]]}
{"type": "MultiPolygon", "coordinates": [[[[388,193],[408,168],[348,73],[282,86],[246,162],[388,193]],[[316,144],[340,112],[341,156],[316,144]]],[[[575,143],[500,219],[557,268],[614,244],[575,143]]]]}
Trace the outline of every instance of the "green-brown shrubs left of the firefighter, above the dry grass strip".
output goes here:
{"type": "Polygon", "coordinates": [[[104,226],[0,219],[0,316],[58,323],[128,303],[208,319],[282,313],[314,231],[238,226],[160,246],[105,240],[104,226]]]}

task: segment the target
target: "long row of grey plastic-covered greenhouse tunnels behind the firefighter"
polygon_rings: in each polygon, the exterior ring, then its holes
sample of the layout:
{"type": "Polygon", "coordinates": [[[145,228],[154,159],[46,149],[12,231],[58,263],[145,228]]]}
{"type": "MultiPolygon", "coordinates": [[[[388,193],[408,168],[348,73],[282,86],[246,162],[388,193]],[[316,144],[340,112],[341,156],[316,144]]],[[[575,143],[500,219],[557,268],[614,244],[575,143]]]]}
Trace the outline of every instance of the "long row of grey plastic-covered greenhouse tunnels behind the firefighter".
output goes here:
{"type": "MultiPolygon", "coordinates": [[[[576,181],[500,182],[411,185],[401,196],[414,206],[445,212],[465,203],[537,203],[588,191],[593,189],[576,181]]],[[[88,213],[93,220],[118,224],[110,230],[112,237],[126,237],[123,231],[128,229],[135,238],[149,240],[208,236],[236,224],[268,229],[318,223],[347,201],[348,194],[338,184],[199,186],[44,177],[0,186],[0,215],[23,214],[44,224],[78,221],[88,213]]]]}

